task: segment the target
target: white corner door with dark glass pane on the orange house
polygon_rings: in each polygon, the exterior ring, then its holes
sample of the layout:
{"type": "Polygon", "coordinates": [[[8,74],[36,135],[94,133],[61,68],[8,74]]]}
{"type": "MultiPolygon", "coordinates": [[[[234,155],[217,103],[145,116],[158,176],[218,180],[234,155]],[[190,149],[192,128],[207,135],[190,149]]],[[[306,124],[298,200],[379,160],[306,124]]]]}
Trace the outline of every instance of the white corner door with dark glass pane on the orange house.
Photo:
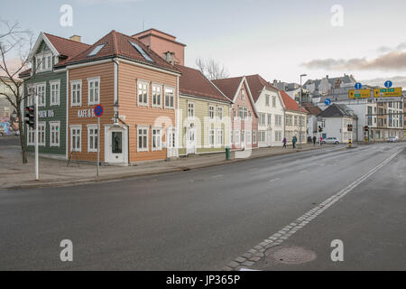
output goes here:
{"type": "Polygon", "coordinates": [[[112,128],[107,131],[106,162],[125,163],[125,130],[112,128]]]}

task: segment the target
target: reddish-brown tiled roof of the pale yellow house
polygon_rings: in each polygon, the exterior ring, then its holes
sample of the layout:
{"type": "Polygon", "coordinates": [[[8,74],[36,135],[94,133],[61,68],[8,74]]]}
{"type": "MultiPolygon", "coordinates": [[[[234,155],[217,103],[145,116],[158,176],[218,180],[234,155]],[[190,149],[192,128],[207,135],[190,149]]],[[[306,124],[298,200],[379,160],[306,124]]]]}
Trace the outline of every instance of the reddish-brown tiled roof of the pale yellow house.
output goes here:
{"type": "Polygon", "coordinates": [[[199,70],[175,65],[182,73],[179,80],[180,93],[231,102],[199,70]]]}

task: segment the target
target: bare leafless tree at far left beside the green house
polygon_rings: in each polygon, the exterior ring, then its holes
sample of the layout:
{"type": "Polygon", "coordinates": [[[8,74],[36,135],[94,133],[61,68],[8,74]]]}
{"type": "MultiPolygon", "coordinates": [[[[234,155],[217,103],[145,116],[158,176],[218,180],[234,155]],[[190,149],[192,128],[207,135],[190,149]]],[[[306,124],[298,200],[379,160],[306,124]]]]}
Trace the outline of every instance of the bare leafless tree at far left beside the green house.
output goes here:
{"type": "Polygon", "coordinates": [[[20,143],[23,163],[28,163],[27,151],[24,144],[25,132],[23,129],[23,116],[21,107],[24,98],[29,97],[23,93],[23,84],[28,79],[19,79],[23,70],[29,68],[29,53],[32,50],[32,32],[23,30],[18,22],[10,24],[0,21],[0,81],[10,93],[1,92],[0,95],[7,99],[17,114],[20,129],[20,143]]]}

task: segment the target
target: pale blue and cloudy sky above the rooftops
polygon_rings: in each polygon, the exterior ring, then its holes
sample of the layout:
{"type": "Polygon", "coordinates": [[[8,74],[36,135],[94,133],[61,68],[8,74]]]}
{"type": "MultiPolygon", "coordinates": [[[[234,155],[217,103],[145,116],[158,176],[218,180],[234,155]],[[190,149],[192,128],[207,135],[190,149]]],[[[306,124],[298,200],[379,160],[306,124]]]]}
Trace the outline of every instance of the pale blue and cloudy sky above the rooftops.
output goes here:
{"type": "Polygon", "coordinates": [[[0,19],[90,44],[156,28],[188,45],[187,66],[212,58],[230,76],[299,83],[346,73],[406,86],[405,11],[404,0],[14,0],[0,19]],[[60,25],[62,5],[72,26],[60,25]]]}

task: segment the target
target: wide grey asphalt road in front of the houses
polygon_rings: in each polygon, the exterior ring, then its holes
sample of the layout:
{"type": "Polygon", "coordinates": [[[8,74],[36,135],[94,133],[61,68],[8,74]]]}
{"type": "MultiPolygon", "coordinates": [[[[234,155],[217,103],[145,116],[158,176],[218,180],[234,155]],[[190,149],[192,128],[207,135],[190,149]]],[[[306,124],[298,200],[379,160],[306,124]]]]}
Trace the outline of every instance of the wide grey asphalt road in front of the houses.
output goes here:
{"type": "Polygon", "coordinates": [[[220,270],[401,151],[253,268],[406,269],[405,144],[339,145],[119,182],[0,191],[0,269],[220,270]],[[60,261],[60,241],[73,262],[60,261]],[[330,242],[344,242],[332,262],[330,242]],[[298,250],[298,249],[297,249],[298,250]]]}

